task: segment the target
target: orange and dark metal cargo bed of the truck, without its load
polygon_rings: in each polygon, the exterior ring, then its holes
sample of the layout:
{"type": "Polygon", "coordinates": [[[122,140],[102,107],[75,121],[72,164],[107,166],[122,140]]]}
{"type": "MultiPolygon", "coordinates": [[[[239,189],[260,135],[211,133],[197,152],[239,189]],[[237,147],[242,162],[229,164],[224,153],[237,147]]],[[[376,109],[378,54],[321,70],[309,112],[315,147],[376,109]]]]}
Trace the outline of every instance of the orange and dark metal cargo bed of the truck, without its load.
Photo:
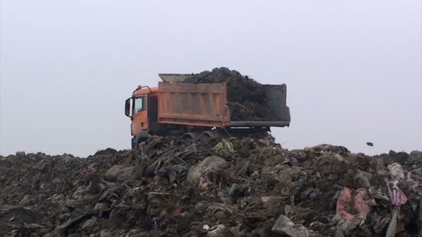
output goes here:
{"type": "Polygon", "coordinates": [[[277,121],[230,121],[226,83],[158,84],[158,122],[206,127],[284,127],[290,123],[286,86],[265,85],[277,121]]]}

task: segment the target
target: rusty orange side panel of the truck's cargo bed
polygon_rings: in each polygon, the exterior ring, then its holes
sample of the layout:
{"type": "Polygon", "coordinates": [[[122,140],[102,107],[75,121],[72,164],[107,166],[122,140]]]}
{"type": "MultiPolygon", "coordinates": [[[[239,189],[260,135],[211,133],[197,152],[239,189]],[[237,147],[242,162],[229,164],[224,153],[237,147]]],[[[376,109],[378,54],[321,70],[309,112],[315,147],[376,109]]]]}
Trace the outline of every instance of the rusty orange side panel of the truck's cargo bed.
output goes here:
{"type": "Polygon", "coordinates": [[[226,83],[158,84],[158,122],[224,127],[230,116],[226,83]]]}

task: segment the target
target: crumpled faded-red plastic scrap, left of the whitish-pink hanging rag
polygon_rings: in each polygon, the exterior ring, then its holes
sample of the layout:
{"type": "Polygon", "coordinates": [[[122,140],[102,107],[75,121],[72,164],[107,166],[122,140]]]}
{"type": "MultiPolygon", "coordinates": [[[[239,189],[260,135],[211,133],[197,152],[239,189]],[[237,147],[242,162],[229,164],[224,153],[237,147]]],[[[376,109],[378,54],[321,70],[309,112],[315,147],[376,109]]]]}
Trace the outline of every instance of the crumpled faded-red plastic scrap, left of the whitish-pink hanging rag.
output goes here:
{"type": "Polygon", "coordinates": [[[355,204],[354,208],[357,211],[357,216],[348,213],[345,209],[345,206],[352,206],[352,190],[350,188],[343,188],[339,195],[339,199],[337,200],[337,214],[343,216],[348,220],[352,220],[354,218],[361,218],[362,223],[366,220],[366,216],[371,211],[371,207],[369,207],[368,201],[365,200],[366,198],[366,190],[360,188],[356,191],[355,197],[353,198],[355,204]]]}

